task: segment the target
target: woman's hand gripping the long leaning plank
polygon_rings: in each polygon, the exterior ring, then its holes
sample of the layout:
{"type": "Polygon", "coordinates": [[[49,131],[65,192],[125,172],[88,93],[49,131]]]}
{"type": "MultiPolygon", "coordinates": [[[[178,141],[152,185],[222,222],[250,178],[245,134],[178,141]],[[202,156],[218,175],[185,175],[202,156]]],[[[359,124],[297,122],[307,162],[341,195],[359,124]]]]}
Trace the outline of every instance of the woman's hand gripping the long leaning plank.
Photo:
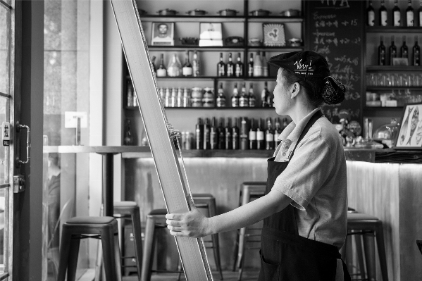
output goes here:
{"type": "Polygon", "coordinates": [[[166,215],[167,228],[170,235],[199,238],[211,234],[209,218],[206,218],[190,201],[189,213],[168,213],[166,215]]]}

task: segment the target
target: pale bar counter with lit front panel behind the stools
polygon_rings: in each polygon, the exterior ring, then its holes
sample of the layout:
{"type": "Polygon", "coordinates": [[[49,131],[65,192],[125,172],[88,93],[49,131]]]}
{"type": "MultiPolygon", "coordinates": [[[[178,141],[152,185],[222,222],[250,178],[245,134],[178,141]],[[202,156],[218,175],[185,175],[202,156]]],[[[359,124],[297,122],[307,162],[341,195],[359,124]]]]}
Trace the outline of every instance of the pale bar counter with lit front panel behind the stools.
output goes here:
{"type": "MultiPolygon", "coordinates": [[[[422,258],[416,239],[422,238],[422,220],[418,218],[422,214],[422,166],[412,163],[415,159],[418,162],[421,154],[392,149],[345,149],[345,153],[349,207],[383,220],[390,280],[421,280],[422,258]],[[404,163],[376,163],[388,159],[394,162],[397,156],[404,163]]],[[[266,181],[266,158],[272,156],[272,151],[192,150],[182,151],[182,156],[192,193],[213,194],[217,213],[224,213],[239,206],[242,182],[266,181]]],[[[125,198],[137,201],[145,221],[149,211],[166,207],[154,161],[148,152],[123,152],[122,157],[125,158],[125,198]]],[[[171,238],[167,240],[173,243],[171,238]]],[[[235,241],[235,231],[220,234],[225,270],[233,266],[235,241]]],[[[175,249],[168,249],[168,244],[158,248],[160,255],[177,258],[175,249]]],[[[248,251],[246,266],[259,266],[257,253],[248,251]]],[[[213,268],[211,252],[209,261],[213,268]]],[[[380,276],[378,261],[377,276],[380,276]]]]}

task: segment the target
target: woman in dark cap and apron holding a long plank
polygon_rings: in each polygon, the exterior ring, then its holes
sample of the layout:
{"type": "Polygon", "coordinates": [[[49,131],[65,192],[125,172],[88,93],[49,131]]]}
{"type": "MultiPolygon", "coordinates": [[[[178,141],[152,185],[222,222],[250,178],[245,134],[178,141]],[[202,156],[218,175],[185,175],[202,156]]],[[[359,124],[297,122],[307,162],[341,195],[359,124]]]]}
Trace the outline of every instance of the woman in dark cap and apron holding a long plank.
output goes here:
{"type": "Polygon", "coordinates": [[[320,107],[340,103],[345,87],[313,51],[274,56],[268,64],[278,68],[275,111],[292,123],[268,159],[266,195],[212,218],[194,207],[168,214],[170,234],[204,237],[263,219],[259,280],[350,280],[338,252],[347,232],[345,152],[320,107]]]}

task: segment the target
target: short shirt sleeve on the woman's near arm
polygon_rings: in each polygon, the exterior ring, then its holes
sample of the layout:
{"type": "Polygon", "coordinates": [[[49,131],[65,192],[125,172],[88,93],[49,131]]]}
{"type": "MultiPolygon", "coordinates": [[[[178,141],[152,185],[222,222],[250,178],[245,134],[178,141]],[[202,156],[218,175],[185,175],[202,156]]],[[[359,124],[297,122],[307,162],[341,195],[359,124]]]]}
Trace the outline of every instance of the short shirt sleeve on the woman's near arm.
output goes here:
{"type": "Polygon", "coordinates": [[[330,177],[335,155],[319,134],[299,143],[287,168],[275,180],[273,189],[289,196],[292,206],[305,210],[330,177]]]}

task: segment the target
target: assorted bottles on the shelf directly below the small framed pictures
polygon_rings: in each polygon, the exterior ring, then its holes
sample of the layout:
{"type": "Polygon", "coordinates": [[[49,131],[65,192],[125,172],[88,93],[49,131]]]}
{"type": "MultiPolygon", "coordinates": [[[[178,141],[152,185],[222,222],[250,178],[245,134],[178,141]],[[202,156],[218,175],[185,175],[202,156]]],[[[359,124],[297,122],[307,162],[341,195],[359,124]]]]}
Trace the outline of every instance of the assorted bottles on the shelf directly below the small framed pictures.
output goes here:
{"type": "MultiPolygon", "coordinates": [[[[201,68],[199,64],[198,52],[194,51],[192,63],[190,61],[190,51],[185,51],[185,63],[180,63],[178,54],[173,54],[167,67],[164,63],[164,54],[160,55],[158,67],[155,65],[156,57],[151,58],[151,62],[156,73],[156,77],[178,77],[193,76],[200,77],[201,68]]],[[[247,65],[242,63],[240,53],[237,53],[237,61],[233,62],[232,53],[228,53],[228,61],[225,62],[223,53],[220,53],[220,60],[217,63],[217,77],[268,77],[268,65],[266,63],[265,51],[250,53],[247,65]]]]}

